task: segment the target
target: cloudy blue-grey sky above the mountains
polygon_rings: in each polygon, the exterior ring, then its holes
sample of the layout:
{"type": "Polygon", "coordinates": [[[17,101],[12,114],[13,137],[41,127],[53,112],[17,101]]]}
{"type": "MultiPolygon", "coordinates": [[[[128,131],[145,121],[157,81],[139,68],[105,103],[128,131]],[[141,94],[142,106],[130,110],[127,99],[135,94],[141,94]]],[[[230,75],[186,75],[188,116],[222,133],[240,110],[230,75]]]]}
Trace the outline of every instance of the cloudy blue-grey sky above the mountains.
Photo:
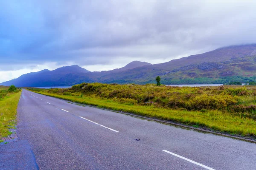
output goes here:
{"type": "Polygon", "coordinates": [[[1,0],[0,82],[78,64],[162,63],[256,43],[255,0],[1,0]]]}

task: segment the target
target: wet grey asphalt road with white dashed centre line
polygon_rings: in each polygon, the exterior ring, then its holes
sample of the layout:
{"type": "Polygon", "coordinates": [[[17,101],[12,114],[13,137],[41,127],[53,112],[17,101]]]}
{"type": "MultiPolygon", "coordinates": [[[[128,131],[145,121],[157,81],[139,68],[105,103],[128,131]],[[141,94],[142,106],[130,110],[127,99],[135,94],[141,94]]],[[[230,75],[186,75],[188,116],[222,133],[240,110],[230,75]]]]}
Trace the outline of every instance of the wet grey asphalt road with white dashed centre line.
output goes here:
{"type": "Polygon", "coordinates": [[[18,140],[0,145],[5,156],[0,169],[256,169],[254,143],[75,105],[26,90],[17,116],[18,140]],[[15,145],[25,149],[14,153],[15,145]],[[19,164],[11,161],[12,156],[19,164]]]}

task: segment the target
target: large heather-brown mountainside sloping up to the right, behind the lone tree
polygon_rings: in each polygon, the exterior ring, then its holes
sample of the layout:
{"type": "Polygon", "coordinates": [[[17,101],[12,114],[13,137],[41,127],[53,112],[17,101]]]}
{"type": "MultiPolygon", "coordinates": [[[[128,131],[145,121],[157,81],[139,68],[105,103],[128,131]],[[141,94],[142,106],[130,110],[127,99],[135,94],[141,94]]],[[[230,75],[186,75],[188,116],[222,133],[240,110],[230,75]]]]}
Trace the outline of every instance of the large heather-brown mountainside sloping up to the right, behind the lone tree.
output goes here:
{"type": "Polygon", "coordinates": [[[80,78],[86,80],[84,82],[139,84],[155,83],[157,76],[161,76],[163,84],[245,82],[254,79],[248,77],[256,76],[255,54],[256,44],[236,45],[99,77],[92,72],[85,79],[80,78]],[[93,76],[96,79],[93,79],[93,76]]]}

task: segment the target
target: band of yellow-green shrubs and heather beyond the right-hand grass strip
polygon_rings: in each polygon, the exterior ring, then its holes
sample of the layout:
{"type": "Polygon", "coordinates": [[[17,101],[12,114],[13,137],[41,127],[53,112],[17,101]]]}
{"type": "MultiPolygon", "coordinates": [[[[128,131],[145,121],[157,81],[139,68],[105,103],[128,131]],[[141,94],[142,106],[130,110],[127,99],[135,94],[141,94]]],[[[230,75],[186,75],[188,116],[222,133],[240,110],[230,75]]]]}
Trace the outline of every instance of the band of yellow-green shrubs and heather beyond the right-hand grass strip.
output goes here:
{"type": "MultiPolygon", "coordinates": [[[[154,105],[155,107],[172,109],[184,108],[188,111],[221,110],[229,113],[231,106],[237,104],[254,105],[254,96],[256,96],[256,88],[239,86],[172,87],[154,84],[81,83],[73,85],[69,89],[55,88],[44,91],[49,94],[78,96],[80,98],[88,96],[100,99],[116,98],[115,101],[126,104],[154,105]]],[[[238,110],[236,109],[236,111],[238,110]]]]}

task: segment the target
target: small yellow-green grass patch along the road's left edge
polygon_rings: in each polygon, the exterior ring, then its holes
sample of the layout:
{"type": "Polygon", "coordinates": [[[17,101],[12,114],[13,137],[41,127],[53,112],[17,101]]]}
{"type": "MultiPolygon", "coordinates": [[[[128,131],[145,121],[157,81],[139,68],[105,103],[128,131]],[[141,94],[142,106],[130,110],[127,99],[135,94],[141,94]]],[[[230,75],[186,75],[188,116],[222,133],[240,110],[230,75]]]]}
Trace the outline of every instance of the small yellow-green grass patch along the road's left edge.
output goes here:
{"type": "Polygon", "coordinates": [[[9,136],[9,128],[16,125],[17,105],[20,99],[21,91],[7,91],[5,88],[0,89],[0,142],[2,137],[9,136]]]}

